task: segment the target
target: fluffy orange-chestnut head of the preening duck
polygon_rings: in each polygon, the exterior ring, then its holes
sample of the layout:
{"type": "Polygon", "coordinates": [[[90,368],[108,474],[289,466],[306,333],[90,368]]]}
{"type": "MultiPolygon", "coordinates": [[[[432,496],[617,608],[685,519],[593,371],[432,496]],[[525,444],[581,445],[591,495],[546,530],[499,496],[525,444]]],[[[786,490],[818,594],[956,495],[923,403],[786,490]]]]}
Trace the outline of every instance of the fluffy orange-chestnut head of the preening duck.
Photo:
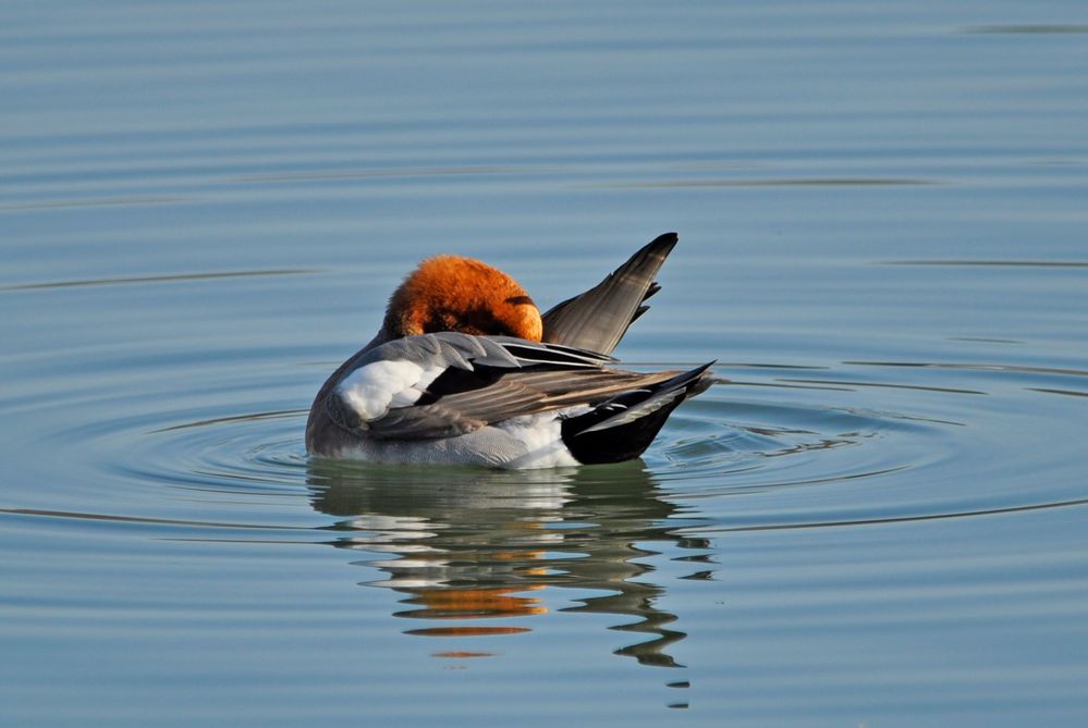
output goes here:
{"type": "Polygon", "coordinates": [[[419,263],[389,299],[383,329],[393,338],[437,331],[534,342],[543,335],[540,311],[517,281],[461,256],[419,263]]]}

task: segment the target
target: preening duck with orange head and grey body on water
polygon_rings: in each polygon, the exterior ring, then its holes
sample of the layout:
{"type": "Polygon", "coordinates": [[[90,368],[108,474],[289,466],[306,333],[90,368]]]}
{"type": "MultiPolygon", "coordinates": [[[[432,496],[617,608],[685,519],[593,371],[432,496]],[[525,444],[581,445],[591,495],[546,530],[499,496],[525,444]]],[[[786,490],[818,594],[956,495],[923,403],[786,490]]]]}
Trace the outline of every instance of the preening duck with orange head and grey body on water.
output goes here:
{"type": "Polygon", "coordinates": [[[498,469],[638,458],[672,411],[716,381],[713,361],[643,373],[612,357],[661,289],[655,277],[677,240],[659,235],[545,313],[485,262],[424,260],[393,292],[374,338],[318,391],[307,452],[498,469]]]}

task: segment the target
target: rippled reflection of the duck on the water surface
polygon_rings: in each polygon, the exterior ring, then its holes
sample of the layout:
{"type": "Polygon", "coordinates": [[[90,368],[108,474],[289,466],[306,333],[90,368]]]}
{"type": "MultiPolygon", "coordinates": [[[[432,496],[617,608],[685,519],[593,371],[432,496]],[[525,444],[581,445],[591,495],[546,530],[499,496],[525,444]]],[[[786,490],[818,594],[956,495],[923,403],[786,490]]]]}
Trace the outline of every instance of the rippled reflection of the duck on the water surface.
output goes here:
{"type": "Polygon", "coordinates": [[[384,578],[367,583],[406,594],[409,606],[396,616],[420,622],[406,632],[529,631],[531,621],[509,618],[545,614],[547,590],[574,588],[601,595],[574,600],[580,605],[564,612],[629,617],[612,629],[648,637],[616,654],[676,665],[667,649],[685,633],[669,629],[676,617],[657,606],[664,588],[650,581],[655,569],[645,559],[656,552],[645,544],[708,544],[664,525],[675,507],[640,462],[491,472],[314,461],[308,481],[314,507],[341,519],[333,545],[375,555],[363,563],[384,578]]]}

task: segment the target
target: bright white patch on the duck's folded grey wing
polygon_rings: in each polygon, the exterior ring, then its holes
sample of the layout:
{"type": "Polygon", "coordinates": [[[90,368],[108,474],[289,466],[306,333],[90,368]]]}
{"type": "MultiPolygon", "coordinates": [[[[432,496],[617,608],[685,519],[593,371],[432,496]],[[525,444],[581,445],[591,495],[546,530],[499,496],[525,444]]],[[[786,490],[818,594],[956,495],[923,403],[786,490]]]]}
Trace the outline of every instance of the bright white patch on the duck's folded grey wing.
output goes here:
{"type": "Polygon", "coordinates": [[[359,367],[337,385],[337,396],[364,422],[394,407],[414,405],[445,367],[420,367],[403,359],[386,359],[359,367]]]}

